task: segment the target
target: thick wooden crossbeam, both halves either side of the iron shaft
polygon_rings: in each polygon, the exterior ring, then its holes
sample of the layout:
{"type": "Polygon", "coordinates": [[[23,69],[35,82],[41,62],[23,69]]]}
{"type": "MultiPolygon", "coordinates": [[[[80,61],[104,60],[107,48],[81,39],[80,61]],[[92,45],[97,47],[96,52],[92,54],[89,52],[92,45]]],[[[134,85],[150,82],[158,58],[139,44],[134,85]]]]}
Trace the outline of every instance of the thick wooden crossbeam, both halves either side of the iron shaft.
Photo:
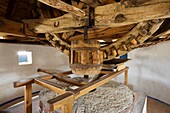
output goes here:
{"type": "MultiPolygon", "coordinates": [[[[112,3],[95,8],[95,27],[120,27],[146,20],[170,17],[169,0],[151,0],[143,4],[112,3]],[[106,13],[107,12],[107,13],[106,13]]],[[[35,33],[70,32],[86,25],[86,17],[65,14],[54,19],[25,20],[28,28],[35,33]]]]}

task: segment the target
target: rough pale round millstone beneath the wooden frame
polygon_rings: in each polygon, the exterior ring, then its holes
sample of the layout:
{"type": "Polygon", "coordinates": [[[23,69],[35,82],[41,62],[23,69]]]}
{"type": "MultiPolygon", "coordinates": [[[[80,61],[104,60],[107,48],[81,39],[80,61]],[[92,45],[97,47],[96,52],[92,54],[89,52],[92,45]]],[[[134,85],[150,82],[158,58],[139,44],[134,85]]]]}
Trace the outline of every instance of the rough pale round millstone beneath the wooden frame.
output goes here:
{"type": "MultiPolygon", "coordinates": [[[[39,96],[41,110],[48,111],[47,100],[58,94],[43,89],[39,96]]],[[[73,113],[130,113],[133,100],[133,91],[127,86],[110,81],[74,101],[73,113]]],[[[61,113],[61,109],[53,113],[61,113]]]]}

